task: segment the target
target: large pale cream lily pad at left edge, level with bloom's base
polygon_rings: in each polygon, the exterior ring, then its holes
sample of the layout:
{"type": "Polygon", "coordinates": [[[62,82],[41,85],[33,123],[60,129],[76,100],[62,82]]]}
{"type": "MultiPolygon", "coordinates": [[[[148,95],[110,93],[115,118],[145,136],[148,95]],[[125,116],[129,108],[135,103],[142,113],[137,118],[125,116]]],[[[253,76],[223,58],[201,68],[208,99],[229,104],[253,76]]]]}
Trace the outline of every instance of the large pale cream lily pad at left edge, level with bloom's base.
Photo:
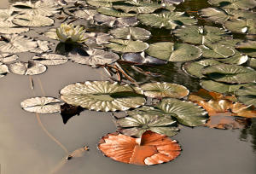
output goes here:
{"type": "Polygon", "coordinates": [[[37,48],[37,42],[18,34],[4,35],[6,40],[0,41],[0,51],[3,53],[21,53],[37,48]]]}

